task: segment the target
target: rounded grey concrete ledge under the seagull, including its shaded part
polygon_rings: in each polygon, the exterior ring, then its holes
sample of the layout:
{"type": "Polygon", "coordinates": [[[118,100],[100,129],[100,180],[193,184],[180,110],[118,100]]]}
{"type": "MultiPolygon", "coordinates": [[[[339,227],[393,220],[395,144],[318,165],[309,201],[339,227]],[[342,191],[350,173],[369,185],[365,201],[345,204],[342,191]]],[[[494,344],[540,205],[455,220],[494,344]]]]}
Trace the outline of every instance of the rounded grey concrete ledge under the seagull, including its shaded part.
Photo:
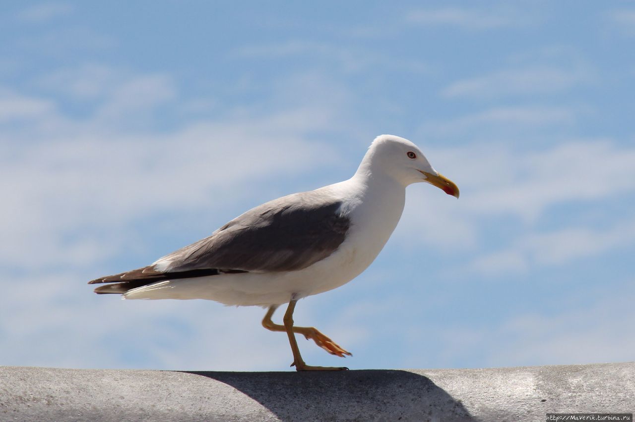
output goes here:
{"type": "Polygon", "coordinates": [[[1,421],[544,421],[635,409],[635,362],[231,373],[0,366],[1,421]]]}

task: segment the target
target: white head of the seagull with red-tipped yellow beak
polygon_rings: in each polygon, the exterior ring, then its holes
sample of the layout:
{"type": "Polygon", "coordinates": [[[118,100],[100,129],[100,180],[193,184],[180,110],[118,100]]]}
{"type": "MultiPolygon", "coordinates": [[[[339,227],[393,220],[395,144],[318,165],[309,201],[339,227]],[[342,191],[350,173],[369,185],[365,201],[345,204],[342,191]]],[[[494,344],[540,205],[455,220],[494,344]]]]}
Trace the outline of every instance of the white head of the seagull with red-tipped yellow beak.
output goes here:
{"type": "Polygon", "coordinates": [[[419,147],[403,137],[394,135],[376,137],[364,157],[362,166],[364,162],[368,165],[370,172],[384,172],[401,182],[403,186],[427,182],[448,195],[458,198],[457,185],[434,170],[419,147]]]}

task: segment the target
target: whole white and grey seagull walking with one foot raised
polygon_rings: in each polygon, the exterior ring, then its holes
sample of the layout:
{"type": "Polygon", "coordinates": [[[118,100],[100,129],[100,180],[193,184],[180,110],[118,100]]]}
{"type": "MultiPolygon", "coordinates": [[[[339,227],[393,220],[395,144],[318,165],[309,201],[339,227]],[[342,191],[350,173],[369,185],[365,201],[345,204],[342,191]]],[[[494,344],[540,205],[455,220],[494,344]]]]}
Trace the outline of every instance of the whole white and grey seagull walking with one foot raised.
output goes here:
{"type": "Polygon", "coordinates": [[[403,212],[406,186],[427,182],[458,198],[457,185],[439,174],[408,139],[381,135],[355,174],[269,201],[239,215],[209,237],[148,265],[90,281],[95,293],[124,299],[208,299],[267,308],[262,325],[285,332],[297,371],[310,366],[295,334],[340,357],[350,352],[314,327],[293,325],[298,300],[345,285],[375,260],[403,212]],[[283,324],[272,316],[288,304],[283,324]]]}

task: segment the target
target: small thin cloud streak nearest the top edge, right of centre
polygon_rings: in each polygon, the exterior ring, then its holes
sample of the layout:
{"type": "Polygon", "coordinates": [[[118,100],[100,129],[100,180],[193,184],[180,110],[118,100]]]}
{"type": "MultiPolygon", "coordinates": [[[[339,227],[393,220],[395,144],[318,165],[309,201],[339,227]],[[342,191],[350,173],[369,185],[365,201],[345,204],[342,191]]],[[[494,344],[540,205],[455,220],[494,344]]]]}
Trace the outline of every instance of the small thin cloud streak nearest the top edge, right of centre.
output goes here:
{"type": "Polygon", "coordinates": [[[420,25],[448,25],[471,30],[497,29],[521,22],[509,13],[466,8],[414,10],[408,13],[406,21],[420,25]]]}

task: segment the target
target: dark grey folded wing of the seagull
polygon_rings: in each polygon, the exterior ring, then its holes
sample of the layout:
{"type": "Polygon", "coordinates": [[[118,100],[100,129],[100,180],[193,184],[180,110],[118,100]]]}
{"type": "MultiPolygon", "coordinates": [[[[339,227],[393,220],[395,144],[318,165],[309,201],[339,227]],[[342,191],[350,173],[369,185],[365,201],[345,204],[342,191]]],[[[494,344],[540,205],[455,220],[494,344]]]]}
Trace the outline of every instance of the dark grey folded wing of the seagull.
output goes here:
{"type": "Polygon", "coordinates": [[[342,201],[316,191],[284,196],[249,210],[150,268],[164,273],[303,269],[331,255],[344,241],[351,221],[341,208],[342,201]]]}

